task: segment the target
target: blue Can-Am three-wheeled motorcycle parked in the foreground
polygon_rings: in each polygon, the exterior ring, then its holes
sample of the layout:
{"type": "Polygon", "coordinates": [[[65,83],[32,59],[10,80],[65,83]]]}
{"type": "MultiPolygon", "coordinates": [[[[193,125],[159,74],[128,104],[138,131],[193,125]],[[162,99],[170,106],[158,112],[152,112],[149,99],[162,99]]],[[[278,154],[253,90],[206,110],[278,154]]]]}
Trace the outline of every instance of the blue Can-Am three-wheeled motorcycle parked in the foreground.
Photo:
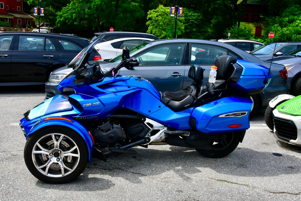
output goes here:
{"type": "Polygon", "coordinates": [[[192,65],[190,86],[162,93],[142,77],[116,75],[122,67],[139,65],[127,48],[113,68],[87,64],[89,53],[79,53],[70,63],[74,71],[58,85],[60,95],[20,120],[26,166],[44,182],[78,177],[92,152],[106,161],[113,153],[136,154],[134,146],[173,145],[224,157],[250,127],[250,96],[263,91],[270,78],[264,66],[220,56],[215,83],[203,81],[204,69],[192,65]]]}

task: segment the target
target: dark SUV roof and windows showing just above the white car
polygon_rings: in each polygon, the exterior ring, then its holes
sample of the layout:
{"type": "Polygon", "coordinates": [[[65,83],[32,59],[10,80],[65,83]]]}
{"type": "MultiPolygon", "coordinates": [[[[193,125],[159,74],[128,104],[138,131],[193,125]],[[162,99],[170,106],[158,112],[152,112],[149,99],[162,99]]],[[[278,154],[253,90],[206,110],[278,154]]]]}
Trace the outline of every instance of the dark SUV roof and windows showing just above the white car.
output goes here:
{"type": "Polygon", "coordinates": [[[112,31],[112,32],[101,32],[101,33],[94,33],[95,36],[92,37],[89,42],[92,43],[95,40],[98,42],[104,42],[108,40],[114,40],[117,38],[150,38],[154,40],[158,40],[156,36],[152,34],[145,34],[145,33],[136,33],[136,32],[123,32],[123,31],[112,31]]]}

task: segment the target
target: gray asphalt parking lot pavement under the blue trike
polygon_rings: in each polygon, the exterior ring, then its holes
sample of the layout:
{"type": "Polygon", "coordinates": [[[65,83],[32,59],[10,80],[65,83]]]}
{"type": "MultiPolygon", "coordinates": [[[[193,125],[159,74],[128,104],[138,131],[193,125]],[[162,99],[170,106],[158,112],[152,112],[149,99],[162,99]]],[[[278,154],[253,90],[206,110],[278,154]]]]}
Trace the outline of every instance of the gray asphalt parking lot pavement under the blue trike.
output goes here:
{"type": "Polygon", "coordinates": [[[0,87],[0,201],[58,200],[301,200],[301,148],[278,142],[264,110],[250,121],[244,141],[225,158],[190,148],[135,147],[136,155],[97,158],[65,184],[37,180],[26,168],[19,121],[43,101],[40,86],[0,87]]]}

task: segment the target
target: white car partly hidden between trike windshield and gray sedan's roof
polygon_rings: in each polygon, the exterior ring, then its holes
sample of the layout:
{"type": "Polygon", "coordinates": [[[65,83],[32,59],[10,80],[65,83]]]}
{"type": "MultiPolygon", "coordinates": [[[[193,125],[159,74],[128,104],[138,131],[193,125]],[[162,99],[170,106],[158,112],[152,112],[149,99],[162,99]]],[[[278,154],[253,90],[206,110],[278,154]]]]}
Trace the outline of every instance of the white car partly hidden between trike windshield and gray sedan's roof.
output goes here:
{"type": "Polygon", "coordinates": [[[101,56],[101,60],[113,59],[122,54],[123,47],[129,49],[140,45],[141,43],[150,41],[150,38],[118,38],[110,41],[101,42],[95,45],[95,49],[101,56]]]}

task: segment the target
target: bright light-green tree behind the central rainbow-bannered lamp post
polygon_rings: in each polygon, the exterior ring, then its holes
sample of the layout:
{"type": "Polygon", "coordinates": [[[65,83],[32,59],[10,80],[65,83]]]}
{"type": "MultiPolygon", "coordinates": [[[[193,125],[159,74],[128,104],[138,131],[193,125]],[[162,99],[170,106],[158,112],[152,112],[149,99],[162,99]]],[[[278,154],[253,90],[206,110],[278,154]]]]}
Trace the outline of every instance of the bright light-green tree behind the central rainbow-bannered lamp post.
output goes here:
{"type": "MultiPolygon", "coordinates": [[[[147,33],[153,34],[160,39],[174,38],[175,35],[175,18],[170,16],[170,7],[159,5],[157,9],[148,11],[147,33]]],[[[184,18],[177,18],[176,34],[184,33],[184,18]]]]}

